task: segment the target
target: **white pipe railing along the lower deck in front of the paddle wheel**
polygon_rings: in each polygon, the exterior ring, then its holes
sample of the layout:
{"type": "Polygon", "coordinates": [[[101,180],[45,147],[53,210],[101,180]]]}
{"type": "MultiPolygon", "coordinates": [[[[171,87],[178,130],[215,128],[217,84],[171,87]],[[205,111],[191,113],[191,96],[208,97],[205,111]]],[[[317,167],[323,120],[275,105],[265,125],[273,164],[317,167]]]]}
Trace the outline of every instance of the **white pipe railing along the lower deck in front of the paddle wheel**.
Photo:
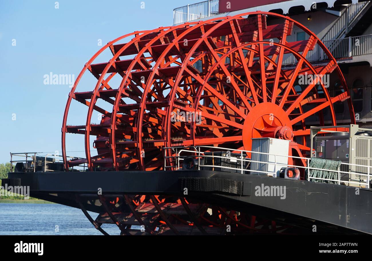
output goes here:
{"type": "MultiPolygon", "coordinates": [[[[198,166],[198,170],[202,170],[204,168],[211,168],[215,171],[224,171],[229,170],[231,172],[235,173],[241,173],[241,174],[259,174],[259,175],[267,175],[269,177],[278,177],[278,172],[282,170],[282,168],[297,168],[298,170],[307,170],[307,180],[308,181],[327,181],[328,183],[334,183],[334,184],[347,184],[348,186],[360,186],[360,187],[366,187],[370,188],[369,181],[371,180],[371,166],[365,166],[365,165],[358,165],[358,164],[350,164],[350,163],[344,163],[341,162],[341,165],[337,168],[337,170],[329,170],[329,169],[323,169],[323,168],[314,168],[310,167],[311,158],[303,158],[303,157],[295,157],[295,156],[286,156],[286,155],[279,155],[279,154],[269,154],[264,152],[257,152],[257,151],[246,151],[246,150],[240,150],[240,149],[231,149],[231,148],[222,148],[222,147],[213,147],[213,146],[174,146],[174,147],[165,147],[163,148],[164,153],[164,170],[182,170],[182,164],[180,164],[180,161],[186,160],[186,158],[192,158],[195,159],[196,162],[198,162],[196,165],[198,166]],[[214,154],[207,155],[205,152],[210,151],[211,149],[221,149],[221,151],[227,152],[226,154],[229,155],[231,151],[237,152],[235,154],[240,154],[240,156],[232,157],[230,156],[218,156],[214,154]],[[171,154],[167,151],[171,151],[171,154]],[[252,158],[248,158],[247,154],[261,154],[261,155],[267,155],[267,158],[270,158],[271,160],[268,161],[256,161],[252,158]],[[207,158],[212,158],[209,162],[210,164],[205,164],[207,161],[207,158]],[[278,159],[288,158],[295,160],[295,159],[302,159],[305,162],[307,162],[307,166],[299,166],[299,165],[291,165],[289,163],[279,163],[278,159]],[[237,164],[234,164],[234,167],[224,166],[223,164],[218,164],[217,162],[221,162],[221,159],[230,160],[231,162],[237,162],[237,164]],[[168,163],[167,163],[168,162],[168,163]],[[251,163],[259,163],[264,165],[270,165],[270,168],[267,168],[267,170],[251,170],[248,166],[251,163]],[[172,164],[172,165],[167,165],[172,164]],[[346,167],[343,168],[342,166],[346,167]],[[356,167],[362,167],[363,170],[367,170],[367,173],[356,173],[352,170],[350,171],[342,171],[343,169],[349,169],[349,168],[356,168],[356,167]],[[270,170],[270,171],[269,171],[270,170]],[[336,174],[337,178],[320,178],[315,177],[312,173],[313,171],[331,171],[336,174]],[[350,179],[349,180],[343,180],[341,176],[347,174],[349,177],[351,175],[359,175],[359,180],[356,179],[350,179]]],[[[287,161],[288,161],[287,160],[287,161]]]]}

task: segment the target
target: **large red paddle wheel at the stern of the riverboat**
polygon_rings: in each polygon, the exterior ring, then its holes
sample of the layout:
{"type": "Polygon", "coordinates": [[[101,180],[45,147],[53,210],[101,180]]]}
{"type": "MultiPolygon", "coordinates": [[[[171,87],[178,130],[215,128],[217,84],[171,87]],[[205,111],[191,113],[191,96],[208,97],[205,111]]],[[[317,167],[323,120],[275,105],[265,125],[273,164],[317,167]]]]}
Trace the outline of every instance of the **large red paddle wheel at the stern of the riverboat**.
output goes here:
{"type": "MultiPolygon", "coordinates": [[[[78,75],[62,124],[65,168],[87,163],[91,171],[162,170],[164,147],[207,145],[250,151],[251,138],[260,137],[290,140],[290,155],[304,157],[310,155],[310,124],[324,126],[329,120],[328,125],[337,125],[334,103],[346,102],[355,123],[349,98],[328,49],[314,33],[286,16],[252,12],[137,31],[103,46],[78,75]],[[294,26],[307,39],[292,41],[294,26]],[[93,64],[107,50],[112,58],[93,64]],[[316,64],[309,62],[314,57],[319,59],[316,64]],[[93,91],[77,91],[86,71],[97,83],[93,91]],[[341,94],[331,96],[321,80],[299,83],[300,75],[321,79],[328,74],[339,79],[341,94]],[[69,113],[76,113],[70,111],[73,100],[87,106],[82,125],[67,125],[69,113]],[[102,114],[98,124],[92,123],[94,112],[102,114]],[[185,115],[198,120],[187,120],[185,115]],[[66,133],[84,135],[85,160],[67,161],[66,133]],[[91,136],[96,137],[94,142],[91,136]],[[91,146],[97,155],[92,155],[91,146]]],[[[173,221],[187,222],[176,214],[166,217],[161,209],[170,202],[186,210],[193,206],[183,198],[125,197],[140,223],[139,213],[145,212],[139,209],[151,204],[161,222],[175,232],[173,221]]],[[[259,223],[254,216],[219,207],[204,215],[207,207],[200,207],[197,218],[187,224],[232,222],[238,230],[255,231],[259,223]]],[[[146,231],[155,233],[148,225],[146,231]]]]}

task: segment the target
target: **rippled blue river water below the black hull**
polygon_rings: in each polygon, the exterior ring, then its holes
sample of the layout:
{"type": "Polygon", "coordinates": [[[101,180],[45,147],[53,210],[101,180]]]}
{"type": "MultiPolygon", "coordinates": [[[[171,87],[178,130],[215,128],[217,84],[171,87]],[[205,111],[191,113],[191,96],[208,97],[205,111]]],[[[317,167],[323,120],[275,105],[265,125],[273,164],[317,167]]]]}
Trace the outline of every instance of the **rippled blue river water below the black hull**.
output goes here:
{"type": "MultiPolygon", "coordinates": [[[[89,214],[93,219],[98,215],[93,212],[89,214]]],[[[120,234],[119,228],[114,224],[103,224],[102,228],[110,235],[120,234]]],[[[60,204],[0,203],[0,235],[102,235],[102,233],[94,228],[80,209],[74,207],[60,204]]]]}

